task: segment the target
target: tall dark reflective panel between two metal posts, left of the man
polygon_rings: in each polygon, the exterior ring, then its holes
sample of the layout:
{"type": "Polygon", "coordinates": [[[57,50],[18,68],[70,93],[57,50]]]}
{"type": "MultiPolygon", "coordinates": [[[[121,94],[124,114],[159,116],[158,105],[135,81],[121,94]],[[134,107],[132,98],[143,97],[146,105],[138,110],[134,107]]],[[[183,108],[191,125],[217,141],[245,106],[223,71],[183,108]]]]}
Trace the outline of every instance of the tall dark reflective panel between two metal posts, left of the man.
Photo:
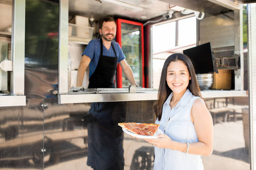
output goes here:
{"type": "Polygon", "coordinates": [[[25,95],[28,99],[56,97],[58,31],[58,1],[26,1],[25,95]]]}

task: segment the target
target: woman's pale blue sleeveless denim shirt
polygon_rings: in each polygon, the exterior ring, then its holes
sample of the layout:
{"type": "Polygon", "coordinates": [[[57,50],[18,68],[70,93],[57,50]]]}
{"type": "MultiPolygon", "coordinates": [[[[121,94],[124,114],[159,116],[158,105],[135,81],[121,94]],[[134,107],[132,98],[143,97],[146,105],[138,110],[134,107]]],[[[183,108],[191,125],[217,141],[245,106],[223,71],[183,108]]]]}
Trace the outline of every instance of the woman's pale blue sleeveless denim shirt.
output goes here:
{"type": "MultiPolygon", "coordinates": [[[[195,126],[191,121],[191,108],[196,99],[201,99],[192,95],[187,90],[181,97],[176,107],[170,107],[172,94],[163,104],[163,114],[156,124],[160,124],[160,129],[172,140],[177,142],[199,142],[195,126]]],[[[203,100],[203,99],[201,99],[203,100]]],[[[204,169],[201,155],[184,154],[183,152],[155,147],[154,170],[188,170],[204,169]]]]}

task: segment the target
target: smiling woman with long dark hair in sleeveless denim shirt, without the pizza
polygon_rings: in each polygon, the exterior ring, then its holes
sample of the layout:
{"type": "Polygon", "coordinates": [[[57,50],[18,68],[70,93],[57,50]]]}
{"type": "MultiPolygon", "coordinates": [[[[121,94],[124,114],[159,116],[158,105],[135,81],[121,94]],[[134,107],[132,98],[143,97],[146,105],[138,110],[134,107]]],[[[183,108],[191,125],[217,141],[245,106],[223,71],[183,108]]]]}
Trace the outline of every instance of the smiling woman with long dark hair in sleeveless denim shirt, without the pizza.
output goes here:
{"type": "Polygon", "coordinates": [[[145,139],[155,146],[154,170],[204,169],[201,155],[213,151],[212,116],[193,64],[184,54],[172,54],[164,62],[154,112],[164,133],[145,139]]]}

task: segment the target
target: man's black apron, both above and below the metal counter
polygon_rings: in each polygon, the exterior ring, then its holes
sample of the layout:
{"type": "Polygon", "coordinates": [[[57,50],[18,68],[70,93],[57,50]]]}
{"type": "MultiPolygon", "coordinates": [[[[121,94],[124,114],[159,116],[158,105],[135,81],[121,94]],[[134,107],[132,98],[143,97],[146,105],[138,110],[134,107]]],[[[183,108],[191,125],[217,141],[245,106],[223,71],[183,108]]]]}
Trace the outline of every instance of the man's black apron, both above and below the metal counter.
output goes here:
{"type": "MultiPolygon", "coordinates": [[[[112,48],[115,53],[113,44],[112,48]]],[[[96,70],[90,76],[88,88],[115,88],[114,74],[117,66],[115,57],[103,56],[101,53],[96,70]]],[[[94,170],[123,170],[123,131],[119,122],[126,119],[125,102],[92,103],[88,115],[93,122],[87,124],[88,129],[88,159],[87,165],[94,170]]]]}

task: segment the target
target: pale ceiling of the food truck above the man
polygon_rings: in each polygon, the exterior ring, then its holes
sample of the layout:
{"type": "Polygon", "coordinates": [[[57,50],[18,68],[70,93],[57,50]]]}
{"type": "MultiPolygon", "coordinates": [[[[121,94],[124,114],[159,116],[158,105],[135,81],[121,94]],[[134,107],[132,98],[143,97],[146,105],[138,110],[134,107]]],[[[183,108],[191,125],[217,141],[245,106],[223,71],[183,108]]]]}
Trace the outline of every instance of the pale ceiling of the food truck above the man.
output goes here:
{"type": "Polygon", "coordinates": [[[184,8],[204,12],[205,14],[217,15],[232,10],[238,10],[241,8],[241,3],[234,3],[229,0],[69,1],[69,15],[81,15],[88,18],[93,18],[94,20],[101,19],[106,15],[113,15],[121,18],[137,20],[139,22],[146,22],[147,20],[167,14],[167,12],[172,13],[183,10],[184,8]]]}

